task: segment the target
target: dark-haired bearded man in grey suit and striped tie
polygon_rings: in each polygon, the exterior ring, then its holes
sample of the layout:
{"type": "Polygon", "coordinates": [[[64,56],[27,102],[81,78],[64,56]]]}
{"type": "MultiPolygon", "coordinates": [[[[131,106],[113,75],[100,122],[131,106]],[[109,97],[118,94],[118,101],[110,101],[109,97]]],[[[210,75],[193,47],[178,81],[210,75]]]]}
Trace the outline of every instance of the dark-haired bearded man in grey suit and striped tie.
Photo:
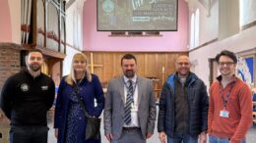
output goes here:
{"type": "Polygon", "coordinates": [[[104,108],[105,136],[111,143],[146,143],[154,133],[156,102],[153,83],[136,74],[131,54],[121,59],[123,75],[108,83],[104,108]]]}

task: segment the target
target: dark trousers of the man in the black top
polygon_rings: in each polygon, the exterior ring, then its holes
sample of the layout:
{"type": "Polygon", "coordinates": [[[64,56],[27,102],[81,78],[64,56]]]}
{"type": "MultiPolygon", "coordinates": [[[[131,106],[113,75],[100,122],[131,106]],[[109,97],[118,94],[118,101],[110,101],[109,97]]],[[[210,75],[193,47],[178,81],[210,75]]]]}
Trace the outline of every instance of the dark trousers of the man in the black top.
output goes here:
{"type": "Polygon", "coordinates": [[[48,130],[44,125],[12,125],[10,143],[47,143],[48,130]]]}

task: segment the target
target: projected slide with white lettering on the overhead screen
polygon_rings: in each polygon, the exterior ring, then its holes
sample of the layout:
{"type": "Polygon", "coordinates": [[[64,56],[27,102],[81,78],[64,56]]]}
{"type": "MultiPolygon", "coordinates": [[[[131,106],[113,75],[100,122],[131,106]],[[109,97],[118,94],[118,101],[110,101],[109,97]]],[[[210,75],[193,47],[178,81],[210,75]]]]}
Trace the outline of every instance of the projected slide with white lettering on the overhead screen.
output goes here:
{"type": "Polygon", "coordinates": [[[177,0],[97,0],[97,30],[177,30],[177,0]]]}

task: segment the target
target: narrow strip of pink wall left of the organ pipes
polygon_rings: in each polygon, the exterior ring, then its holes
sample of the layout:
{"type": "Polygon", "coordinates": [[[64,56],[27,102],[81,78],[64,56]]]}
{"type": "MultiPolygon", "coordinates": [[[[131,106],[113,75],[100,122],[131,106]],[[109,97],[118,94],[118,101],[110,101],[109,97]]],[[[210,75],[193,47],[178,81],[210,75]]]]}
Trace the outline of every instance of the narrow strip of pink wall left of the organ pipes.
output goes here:
{"type": "Polygon", "coordinates": [[[0,0],[0,42],[12,42],[11,26],[8,0],[0,0]]]}

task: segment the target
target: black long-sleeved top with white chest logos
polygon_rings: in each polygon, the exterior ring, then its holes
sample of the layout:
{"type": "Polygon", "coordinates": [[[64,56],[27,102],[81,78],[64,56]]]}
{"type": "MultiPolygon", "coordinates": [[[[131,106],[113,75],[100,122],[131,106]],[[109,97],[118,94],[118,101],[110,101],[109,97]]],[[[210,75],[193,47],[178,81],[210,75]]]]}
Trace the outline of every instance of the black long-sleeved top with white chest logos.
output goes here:
{"type": "Polygon", "coordinates": [[[55,95],[55,84],[47,75],[32,77],[29,71],[10,76],[1,93],[0,107],[13,125],[46,125],[46,114],[55,95]]]}

